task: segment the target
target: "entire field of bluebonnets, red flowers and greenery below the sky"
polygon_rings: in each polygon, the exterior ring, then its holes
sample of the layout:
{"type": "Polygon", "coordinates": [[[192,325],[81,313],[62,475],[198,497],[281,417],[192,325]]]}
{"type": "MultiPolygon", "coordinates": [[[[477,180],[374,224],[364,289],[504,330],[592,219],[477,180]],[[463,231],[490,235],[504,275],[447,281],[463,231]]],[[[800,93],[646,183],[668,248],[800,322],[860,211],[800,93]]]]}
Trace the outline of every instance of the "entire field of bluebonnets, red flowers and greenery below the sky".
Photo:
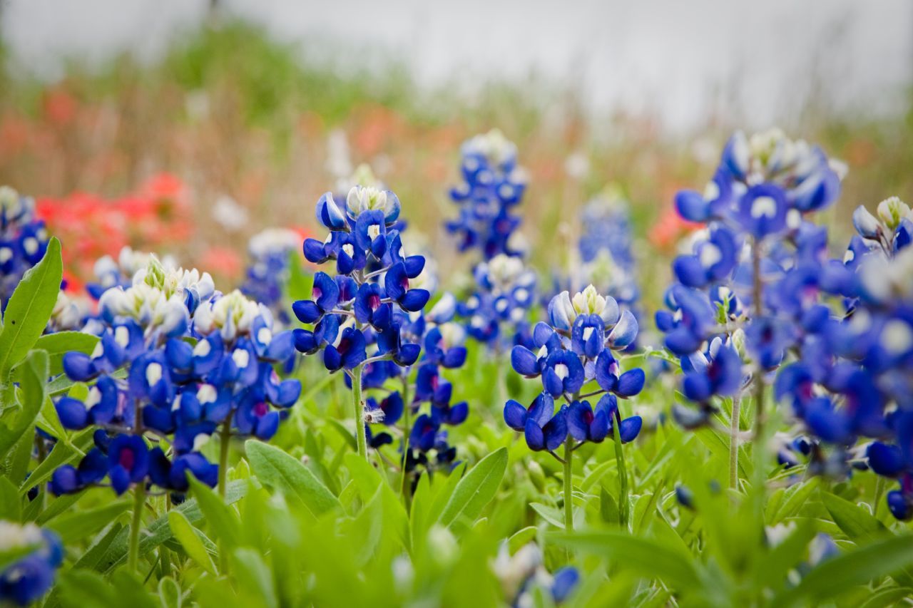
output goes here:
{"type": "Polygon", "coordinates": [[[913,121],[4,66],[0,604],[913,603],[913,121]]]}

